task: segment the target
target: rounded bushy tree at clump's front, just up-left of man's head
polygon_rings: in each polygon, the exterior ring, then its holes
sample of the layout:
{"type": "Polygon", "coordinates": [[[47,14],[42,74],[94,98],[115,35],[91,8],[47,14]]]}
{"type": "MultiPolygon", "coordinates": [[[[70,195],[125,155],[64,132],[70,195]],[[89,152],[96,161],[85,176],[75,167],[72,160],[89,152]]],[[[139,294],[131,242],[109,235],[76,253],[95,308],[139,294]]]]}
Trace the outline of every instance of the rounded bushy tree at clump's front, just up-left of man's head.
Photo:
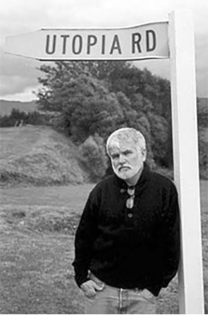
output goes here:
{"type": "Polygon", "coordinates": [[[116,95],[92,76],[82,74],[71,80],[67,92],[66,98],[62,97],[60,124],[78,143],[95,133],[105,138],[123,119],[116,95]]]}

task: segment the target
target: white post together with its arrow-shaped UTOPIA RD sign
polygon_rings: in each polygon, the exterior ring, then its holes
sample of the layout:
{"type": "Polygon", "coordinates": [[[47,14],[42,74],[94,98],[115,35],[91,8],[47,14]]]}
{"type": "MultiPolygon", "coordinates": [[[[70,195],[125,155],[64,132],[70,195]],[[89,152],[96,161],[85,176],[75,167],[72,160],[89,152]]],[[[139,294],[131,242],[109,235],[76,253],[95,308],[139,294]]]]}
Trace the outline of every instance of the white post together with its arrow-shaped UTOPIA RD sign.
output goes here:
{"type": "Polygon", "coordinates": [[[124,29],[42,29],[6,39],[6,52],[39,60],[171,58],[175,183],[180,198],[180,314],[204,314],[193,26],[189,11],[169,22],[124,29]]]}

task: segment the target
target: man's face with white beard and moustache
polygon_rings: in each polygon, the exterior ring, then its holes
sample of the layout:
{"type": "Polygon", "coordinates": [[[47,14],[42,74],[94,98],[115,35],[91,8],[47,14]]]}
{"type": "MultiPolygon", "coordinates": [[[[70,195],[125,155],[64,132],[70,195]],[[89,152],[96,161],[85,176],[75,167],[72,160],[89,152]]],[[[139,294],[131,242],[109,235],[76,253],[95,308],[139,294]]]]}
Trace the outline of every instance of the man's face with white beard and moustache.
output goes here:
{"type": "Polygon", "coordinates": [[[123,180],[134,177],[146,160],[146,149],[140,149],[135,143],[120,141],[110,149],[112,168],[116,175],[123,180]]]}

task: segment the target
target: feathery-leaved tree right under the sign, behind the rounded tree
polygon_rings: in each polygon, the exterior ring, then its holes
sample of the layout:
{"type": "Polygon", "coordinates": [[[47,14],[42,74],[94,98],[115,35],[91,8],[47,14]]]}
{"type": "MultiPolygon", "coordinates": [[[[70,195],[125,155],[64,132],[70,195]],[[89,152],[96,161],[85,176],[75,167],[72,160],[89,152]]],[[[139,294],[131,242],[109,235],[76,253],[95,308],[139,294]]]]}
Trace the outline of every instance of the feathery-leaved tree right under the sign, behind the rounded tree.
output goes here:
{"type": "MultiPolygon", "coordinates": [[[[110,74],[129,67],[125,61],[56,61],[54,65],[42,65],[44,77],[38,78],[42,88],[37,92],[37,104],[41,110],[62,111],[69,89],[79,76],[91,76],[109,81],[110,74]]],[[[104,83],[103,83],[104,84],[104,83]]],[[[106,86],[107,84],[105,84],[106,86]]]]}

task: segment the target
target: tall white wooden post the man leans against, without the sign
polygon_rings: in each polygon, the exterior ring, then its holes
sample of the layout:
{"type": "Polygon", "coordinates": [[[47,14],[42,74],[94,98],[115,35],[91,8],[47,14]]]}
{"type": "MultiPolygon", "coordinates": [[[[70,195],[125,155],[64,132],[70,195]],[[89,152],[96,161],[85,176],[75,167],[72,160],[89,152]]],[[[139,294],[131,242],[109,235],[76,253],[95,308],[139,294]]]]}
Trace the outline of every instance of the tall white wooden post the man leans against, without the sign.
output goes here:
{"type": "Polygon", "coordinates": [[[175,184],[181,210],[180,314],[204,314],[194,33],[189,10],[169,15],[175,184]]]}

